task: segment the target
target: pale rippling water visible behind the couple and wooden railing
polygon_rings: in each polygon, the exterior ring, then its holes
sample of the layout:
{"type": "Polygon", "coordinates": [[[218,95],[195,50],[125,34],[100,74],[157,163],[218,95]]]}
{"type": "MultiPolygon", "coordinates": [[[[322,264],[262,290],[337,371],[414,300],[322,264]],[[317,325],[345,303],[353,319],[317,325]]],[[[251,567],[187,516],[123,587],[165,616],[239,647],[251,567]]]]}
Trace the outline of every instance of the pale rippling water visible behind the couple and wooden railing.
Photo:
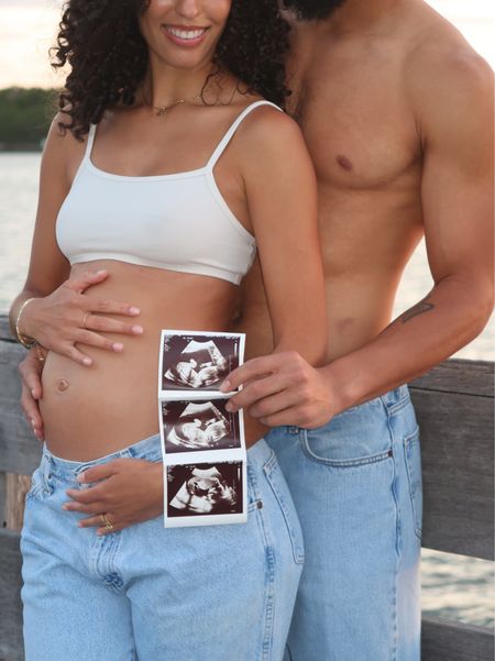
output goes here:
{"type": "MultiPolygon", "coordinates": [[[[36,211],[40,154],[0,153],[0,311],[21,290],[30,257],[36,211]]],[[[415,305],[432,286],[421,244],[405,273],[395,312],[415,305]]],[[[457,354],[493,360],[495,323],[457,354]]],[[[477,624],[494,624],[493,563],[424,550],[424,610],[429,615],[477,624]]]]}

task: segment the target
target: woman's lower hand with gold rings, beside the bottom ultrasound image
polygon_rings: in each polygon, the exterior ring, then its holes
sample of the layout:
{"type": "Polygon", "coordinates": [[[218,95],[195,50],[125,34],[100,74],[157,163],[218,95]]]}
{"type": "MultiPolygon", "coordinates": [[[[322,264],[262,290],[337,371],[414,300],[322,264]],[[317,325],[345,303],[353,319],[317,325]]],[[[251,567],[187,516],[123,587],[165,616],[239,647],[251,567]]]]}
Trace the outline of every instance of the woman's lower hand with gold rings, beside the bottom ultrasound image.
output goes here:
{"type": "Polygon", "coordinates": [[[163,513],[163,466],[142,459],[116,459],[81,473],[80,489],[68,489],[64,509],[89,515],[80,528],[98,528],[97,535],[123,530],[163,513]],[[112,524],[107,529],[101,515],[112,524]]]}

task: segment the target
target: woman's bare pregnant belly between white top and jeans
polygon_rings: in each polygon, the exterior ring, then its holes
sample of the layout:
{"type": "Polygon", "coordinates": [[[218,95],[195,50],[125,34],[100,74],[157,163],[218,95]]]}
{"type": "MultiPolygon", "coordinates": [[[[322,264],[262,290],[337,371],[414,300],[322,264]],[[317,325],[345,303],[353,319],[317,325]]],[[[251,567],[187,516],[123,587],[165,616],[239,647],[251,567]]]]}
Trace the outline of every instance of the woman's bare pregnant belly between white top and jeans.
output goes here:
{"type": "MultiPolygon", "coordinates": [[[[144,333],[110,334],[124,344],[120,353],[81,348],[94,359],[89,367],[48,354],[41,400],[46,444],[55,455],[74,461],[105,456],[156,433],[161,330],[231,330],[238,300],[238,288],[215,277],[116,261],[78,264],[72,274],[88,268],[106,268],[110,276],[87,296],[139,307],[141,315],[134,321],[144,333]]],[[[263,432],[246,422],[251,445],[263,432]]]]}

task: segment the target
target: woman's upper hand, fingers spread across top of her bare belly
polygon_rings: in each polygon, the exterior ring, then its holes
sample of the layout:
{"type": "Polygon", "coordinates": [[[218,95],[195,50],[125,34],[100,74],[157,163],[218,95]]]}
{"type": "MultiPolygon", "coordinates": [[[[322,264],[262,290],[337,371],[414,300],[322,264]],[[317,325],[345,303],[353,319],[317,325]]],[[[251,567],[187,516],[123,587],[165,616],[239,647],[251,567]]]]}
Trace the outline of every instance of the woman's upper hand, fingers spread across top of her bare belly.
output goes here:
{"type": "Polygon", "coordinates": [[[108,277],[109,272],[105,269],[76,269],[55,291],[26,306],[22,312],[22,333],[81,365],[91,365],[92,359],[80,351],[76,343],[107,351],[122,351],[121,342],[101,333],[140,335],[143,328],[108,315],[136,317],[140,309],[127,302],[89,297],[85,294],[108,277]]]}

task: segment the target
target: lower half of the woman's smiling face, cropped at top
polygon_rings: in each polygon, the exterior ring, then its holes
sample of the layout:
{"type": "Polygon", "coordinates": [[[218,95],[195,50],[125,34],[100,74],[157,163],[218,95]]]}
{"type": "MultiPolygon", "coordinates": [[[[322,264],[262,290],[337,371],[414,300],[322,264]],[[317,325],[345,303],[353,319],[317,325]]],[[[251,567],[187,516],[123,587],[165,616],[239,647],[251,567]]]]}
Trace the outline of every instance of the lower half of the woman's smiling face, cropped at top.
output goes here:
{"type": "Polygon", "coordinates": [[[140,30],[158,60],[195,68],[213,58],[231,4],[232,0],[150,0],[140,30]]]}

